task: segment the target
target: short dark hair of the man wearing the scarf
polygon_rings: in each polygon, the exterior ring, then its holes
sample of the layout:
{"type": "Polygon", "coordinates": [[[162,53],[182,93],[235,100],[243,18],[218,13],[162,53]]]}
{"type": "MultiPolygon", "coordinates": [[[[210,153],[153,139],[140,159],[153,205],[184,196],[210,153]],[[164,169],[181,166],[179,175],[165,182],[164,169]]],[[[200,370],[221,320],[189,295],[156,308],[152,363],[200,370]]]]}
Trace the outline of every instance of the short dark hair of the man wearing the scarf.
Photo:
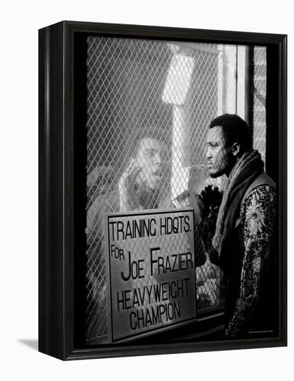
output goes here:
{"type": "Polygon", "coordinates": [[[223,114],[211,121],[209,128],[222,127],[226,145],[239,143],[241,152],[252,148],[252,136],[248,124],[236,114],[223,114]]]}

